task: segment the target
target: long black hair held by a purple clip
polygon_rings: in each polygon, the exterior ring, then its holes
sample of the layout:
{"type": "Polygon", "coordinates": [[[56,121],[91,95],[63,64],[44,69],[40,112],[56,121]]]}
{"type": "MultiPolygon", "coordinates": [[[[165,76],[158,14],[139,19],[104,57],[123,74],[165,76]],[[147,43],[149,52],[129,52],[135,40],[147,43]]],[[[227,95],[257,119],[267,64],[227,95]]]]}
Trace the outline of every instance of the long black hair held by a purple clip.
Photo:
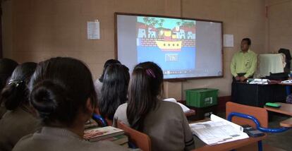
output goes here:
{"type": "Polygon", "coordinates": [[[163,92],[162,69],[153,62],[135,66],[128,92],[127,119],[132,128],[143,131],[145,116],[157,106],[163,92]]]}

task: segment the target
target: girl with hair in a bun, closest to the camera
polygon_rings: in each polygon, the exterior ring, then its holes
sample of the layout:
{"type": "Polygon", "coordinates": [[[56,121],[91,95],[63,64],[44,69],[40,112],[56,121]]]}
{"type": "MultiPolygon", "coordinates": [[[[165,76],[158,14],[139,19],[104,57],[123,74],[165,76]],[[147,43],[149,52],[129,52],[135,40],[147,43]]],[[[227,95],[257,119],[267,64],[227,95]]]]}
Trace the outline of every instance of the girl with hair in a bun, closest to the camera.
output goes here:
{"type": "Polygon", "coordinates": [[[56,57],[40,62],[30,86],[30,103],[44,127],[21,138],[13,150],[126,150],[109,141],[83,140],[96,94],[90,70],[81,61],[56,57]]]}

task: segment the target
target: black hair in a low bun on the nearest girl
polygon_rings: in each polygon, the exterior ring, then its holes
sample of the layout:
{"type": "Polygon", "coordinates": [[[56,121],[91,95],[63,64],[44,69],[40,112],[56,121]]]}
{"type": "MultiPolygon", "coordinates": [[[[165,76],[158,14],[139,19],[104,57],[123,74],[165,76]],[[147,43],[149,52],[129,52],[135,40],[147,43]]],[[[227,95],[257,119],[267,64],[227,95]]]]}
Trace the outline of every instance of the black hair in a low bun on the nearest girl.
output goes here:
{"type": "Polygon", "coordinates": [[[77,59],[56,57],[37,65],[30,81],[30,102],[44,125],[71,126],[80,111],[87,112],[96,93],[90,70],[77,59]]]}

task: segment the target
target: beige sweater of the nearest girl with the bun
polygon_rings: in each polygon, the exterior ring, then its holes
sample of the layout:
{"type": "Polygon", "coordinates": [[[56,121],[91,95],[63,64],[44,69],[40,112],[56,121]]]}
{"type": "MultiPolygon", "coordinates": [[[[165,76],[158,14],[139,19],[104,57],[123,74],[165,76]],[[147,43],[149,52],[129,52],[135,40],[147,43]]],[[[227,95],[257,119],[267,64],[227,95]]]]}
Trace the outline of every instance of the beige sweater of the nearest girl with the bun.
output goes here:
{"type": "Polygon", "coordinates": [[[65,128],[43,127],[41,131],[26,135],[13,151],[98,151],[127,150],[110,141],[88,142],[65,128]]]}

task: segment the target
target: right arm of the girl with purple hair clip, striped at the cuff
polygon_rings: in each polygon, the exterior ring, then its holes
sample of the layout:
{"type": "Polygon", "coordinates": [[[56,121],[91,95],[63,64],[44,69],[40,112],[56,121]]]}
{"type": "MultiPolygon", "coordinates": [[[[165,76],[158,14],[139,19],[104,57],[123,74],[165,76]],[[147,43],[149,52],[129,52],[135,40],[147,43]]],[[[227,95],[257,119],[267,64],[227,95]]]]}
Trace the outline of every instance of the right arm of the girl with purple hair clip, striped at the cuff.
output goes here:
{"type": "Polygon", "coordinates": [[[195,149],[195,140],[193,138],[193,133],[190,131],[190,126],[188,125],[188,119],[186,119],[183,113],[183,133],[185,136],[185,150],[195,149]]]}

